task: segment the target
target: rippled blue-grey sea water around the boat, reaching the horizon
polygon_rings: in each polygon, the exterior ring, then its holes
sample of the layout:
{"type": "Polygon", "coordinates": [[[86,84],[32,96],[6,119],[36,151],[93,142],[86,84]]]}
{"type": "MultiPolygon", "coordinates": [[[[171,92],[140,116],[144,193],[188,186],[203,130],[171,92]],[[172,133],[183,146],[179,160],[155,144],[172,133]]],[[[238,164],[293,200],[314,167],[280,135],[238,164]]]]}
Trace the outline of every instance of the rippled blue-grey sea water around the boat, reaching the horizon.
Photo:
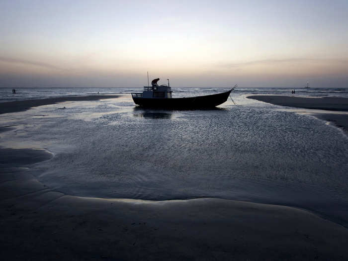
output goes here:
{"type": "MultiPolygon", "coordinates": [[[[250,94],[291,88],[237,88],[212,110],[135,106],[142,88],[0,88],[0,102],[119,94],[0,115],[4,148],[45,149],[54,157],[30,171],[66,194],[144,200],[216,197],[294,206],[348,227],[348,137],[309,110],[250,94]],[[237,105],[235,105],[235,103],[237,105]],[[65,109],[62,109],[65,107],[65,109]]],[[[175,88],[173,97],[227,88],[175,88]]],[[[348,88],[296,89],[299,96],[348,97],[348,88]]]]}

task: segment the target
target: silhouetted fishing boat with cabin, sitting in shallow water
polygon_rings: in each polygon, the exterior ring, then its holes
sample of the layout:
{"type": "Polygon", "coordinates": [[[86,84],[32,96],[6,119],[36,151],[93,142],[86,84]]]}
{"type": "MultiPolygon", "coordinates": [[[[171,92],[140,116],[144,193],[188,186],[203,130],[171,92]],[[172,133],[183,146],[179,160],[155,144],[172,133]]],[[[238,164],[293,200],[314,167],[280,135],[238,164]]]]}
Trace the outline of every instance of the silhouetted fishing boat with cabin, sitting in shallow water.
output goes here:
{"type": "Polygon", "coordinates": [[[151,108],[173,108],[173,109],[196,109],[196,108],[214,108],[224,103],[231,91],[237,85],[228,91],[194,97],[172,98],[172,88],[169,85],[144,86],[143,92],[132,92],[132,98],[135,104],[141,107],[151,108]]]}

